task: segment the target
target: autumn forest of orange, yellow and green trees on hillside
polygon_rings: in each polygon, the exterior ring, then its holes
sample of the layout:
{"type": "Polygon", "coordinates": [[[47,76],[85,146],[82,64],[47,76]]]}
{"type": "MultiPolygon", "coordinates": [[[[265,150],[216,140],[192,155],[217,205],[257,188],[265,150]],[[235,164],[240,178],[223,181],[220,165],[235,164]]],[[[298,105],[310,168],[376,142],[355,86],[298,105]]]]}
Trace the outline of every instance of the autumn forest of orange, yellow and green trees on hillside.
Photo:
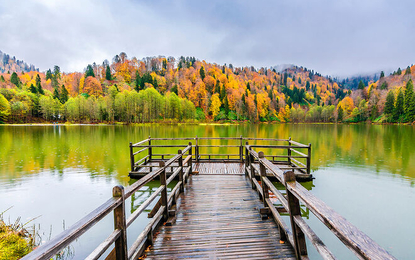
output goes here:
{"type": "Polygon", "coordinates": [[[415,68],[409,66],[357,83],[297,66],[277,71],[194,57],[130,59],[126,53],[89,64],[84,72],[65,73],[59,66],[38,72],[23,65],[27,71],[19,64],[25,63],[2,54],[0,122],[415,120],[415,68]]]}

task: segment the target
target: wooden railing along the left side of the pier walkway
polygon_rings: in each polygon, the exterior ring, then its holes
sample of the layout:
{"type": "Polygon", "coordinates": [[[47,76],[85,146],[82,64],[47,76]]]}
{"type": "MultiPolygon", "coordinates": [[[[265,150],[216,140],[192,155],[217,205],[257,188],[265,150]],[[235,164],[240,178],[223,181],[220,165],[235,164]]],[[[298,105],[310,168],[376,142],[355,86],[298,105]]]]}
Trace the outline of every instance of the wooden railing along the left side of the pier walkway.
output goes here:
{"type": "Polygon", "coordinates": [[[187,182],[191,171],[192,143],[189,143],[183,150],[179,150],[178,153],[167,162],[160,161],[157,169],[132,185],[125,188],[123,186],[115,186],[113,188],[113,196],[109,200],[22,259],[51,259],[111,212],[114,214],[114,231],[98,245],[86,259],[98,259],[113,244],[114,249],[109,253],[106,259],[137,259],[144,252],[145,248],[153,243],[154,230],[162,223],[162,221],[167,221],[170,215],[175,214],[175,212],[171,210],[172,206],[175,205],[179,194],[184,191],[184,185],[187,182]],[[172,175],[167,178],[166,169],[167,167],[171,167],[173,163],[177,164],[177,166],[172,175]],[[168,193],[167,185],[169,185],[177,176],[179,177],[179,181],[168,193]],[[160,186],[158,189],[127,218],[125,214],[126,199],[156,177],[160,177],[160,186]],[[128,227],[157,197],[160,197],[160,206],[155,206],[157,210],[155,214],[152,215],[150,222],[132,246],[127,249],[128,227]]]}

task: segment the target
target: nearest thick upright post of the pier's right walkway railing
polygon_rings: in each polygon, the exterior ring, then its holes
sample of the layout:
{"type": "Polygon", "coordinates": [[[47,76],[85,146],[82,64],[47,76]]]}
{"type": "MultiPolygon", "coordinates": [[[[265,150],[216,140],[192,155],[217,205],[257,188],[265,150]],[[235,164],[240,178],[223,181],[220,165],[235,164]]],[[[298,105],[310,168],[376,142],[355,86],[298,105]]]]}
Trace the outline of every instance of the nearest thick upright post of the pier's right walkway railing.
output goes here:
{"type": "Polygon", "coordinates": [[[305,244],[305,236],[303,231],[294,221],[294,216],[301,217],[300,201],[289,191],[288,185],[295,185],[295,174],[293,171],[284,172],[285,188],[287,191],[288,209],[290,213],[291,229],[294,237],[294,250],[297,259],[307,255],[307,247],[305,244]]]}

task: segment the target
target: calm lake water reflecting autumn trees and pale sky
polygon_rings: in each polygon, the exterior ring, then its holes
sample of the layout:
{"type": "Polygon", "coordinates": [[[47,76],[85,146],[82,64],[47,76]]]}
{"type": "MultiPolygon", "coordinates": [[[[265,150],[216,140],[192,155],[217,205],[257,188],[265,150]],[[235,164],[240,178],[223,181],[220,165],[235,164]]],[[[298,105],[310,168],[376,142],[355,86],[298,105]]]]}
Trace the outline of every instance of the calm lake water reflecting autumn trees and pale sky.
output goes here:
{"type": "MultiPolygon", "coordinates": [[[[379,125],[0,126],[0,213],[11,222],[36,218],[47,241],[106,201],[112,187],[133,182],[129,142],[151,137],[247,136],[312,144],[312,193],[398,259],[415,247],[415,127],[379,125]]],[[[154,184],[129,200],[137,208],[154,184]]],[[[131,244],[146,214],[128,229],[131,244]]],[[[353,257],[315,217],[307,220],[340,259],[353,257]]],[[[83,259],[112,230],[112,214],[74,242],[83,259]]],[[[310,257],[318,259],[310,243],[310,257]]]]}

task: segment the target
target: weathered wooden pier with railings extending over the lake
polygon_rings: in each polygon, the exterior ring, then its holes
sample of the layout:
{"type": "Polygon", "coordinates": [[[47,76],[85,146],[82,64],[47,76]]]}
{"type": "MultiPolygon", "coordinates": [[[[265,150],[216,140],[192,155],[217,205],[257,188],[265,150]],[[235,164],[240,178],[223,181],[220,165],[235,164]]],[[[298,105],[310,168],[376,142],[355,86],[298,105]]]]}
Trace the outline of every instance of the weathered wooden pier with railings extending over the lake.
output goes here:
{"type": "Polygon", "coordinates": [[[110,213],[114,229],[86,259],[308,259],[306,237],[323,259],[336,259],[304,212],[314,214],[358,258],[395,259],[297,182],[312,179],[310,158],[311,146],[291,139],[130,143],[130,176],[139,179],[115,186],[107,202],[23,259],[50,259],[110,213]],[[155,178],[160,186],[126,216],[126,199],[155,178]],[[146,209],[149,222],[127,248],[127,230],[146,209]]]}

